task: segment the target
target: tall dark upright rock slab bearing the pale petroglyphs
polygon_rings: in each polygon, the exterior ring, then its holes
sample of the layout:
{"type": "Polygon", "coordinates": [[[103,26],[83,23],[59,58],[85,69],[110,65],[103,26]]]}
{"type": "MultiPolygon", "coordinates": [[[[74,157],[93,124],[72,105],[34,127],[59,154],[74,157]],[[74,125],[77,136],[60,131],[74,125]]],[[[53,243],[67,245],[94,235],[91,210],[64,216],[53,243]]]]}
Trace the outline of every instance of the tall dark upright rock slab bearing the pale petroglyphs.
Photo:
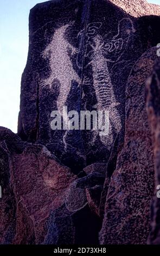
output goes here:
{"type": "MultiPolygon", "coordinates": [[[[36,5],[30,13],[18,135],[46,145],[77,173],[88,164],[107,162],[125,121],[125,87],[131,67],[153,46],[152,37],[146,45],[146,33],[141,20],[111,1],[36,5]],[[62,112],[65,106],[68,112],[79,114],[108,111],[109,133],[102,134],[100,129],[52,130],[50,114],[62,112]]],[[[67,121],[62,118],[63,124],[67,121]]]]}

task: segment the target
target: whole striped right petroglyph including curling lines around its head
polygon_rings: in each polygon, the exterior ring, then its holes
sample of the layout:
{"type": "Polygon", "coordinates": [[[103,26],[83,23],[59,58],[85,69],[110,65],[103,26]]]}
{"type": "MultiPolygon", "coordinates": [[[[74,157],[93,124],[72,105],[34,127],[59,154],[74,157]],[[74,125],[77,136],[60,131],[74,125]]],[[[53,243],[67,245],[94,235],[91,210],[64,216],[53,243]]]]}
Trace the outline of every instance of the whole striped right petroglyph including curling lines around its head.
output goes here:
{"type": "MultiPolygon", "coordinates": [[[[118,33],[112,39],[105,40],[98,35],[98,27],[100,28],[101,25],[97,26],[97,30],[95,29],[95,24],[93,29],[91,25],[88,26],[87,44],[92,50],[86,53],[86,57],[91,59],[87,65],[92,65],[93,86],[98,101],[97,109],[110,112],[109,138],[100,138],[110,148],[113,143],[113,130],[116,133],[121,130],[121,119],[116,108],[119,102],[117,102],[114,95],[108,63],[118,63],[130,36],[135,33],[135,29],[131,19],[122,19],[118,23],[118,33]]],[[[95,138],[96,136],[94,135],[92,144],[95,142],[95,138]]]]}

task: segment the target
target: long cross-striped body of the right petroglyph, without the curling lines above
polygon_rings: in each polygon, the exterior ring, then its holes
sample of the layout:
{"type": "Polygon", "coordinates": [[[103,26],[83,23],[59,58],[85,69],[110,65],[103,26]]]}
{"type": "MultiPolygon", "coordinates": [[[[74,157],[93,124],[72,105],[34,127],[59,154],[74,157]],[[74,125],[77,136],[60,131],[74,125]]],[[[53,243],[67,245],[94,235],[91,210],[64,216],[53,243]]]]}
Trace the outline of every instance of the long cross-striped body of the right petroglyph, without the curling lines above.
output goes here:
{"type": "Polygon", "coordinates": [[[97,109],[109,111],[110,113],[110,137],[100,137],[100,139],[105,145],[107,145],[108,148],[110,148],[111,144],[113,143],[113,129],[116,131],[116,133],[121,129],[120,115],[116,108],[119,103],[114,95],[107,60],[105,59],[103,51],[101,50],[101,39],[99,36],[96,36],[94,40],[95,48],[92,60],[92,70],[93,86],[98,101],[97,109]]]}

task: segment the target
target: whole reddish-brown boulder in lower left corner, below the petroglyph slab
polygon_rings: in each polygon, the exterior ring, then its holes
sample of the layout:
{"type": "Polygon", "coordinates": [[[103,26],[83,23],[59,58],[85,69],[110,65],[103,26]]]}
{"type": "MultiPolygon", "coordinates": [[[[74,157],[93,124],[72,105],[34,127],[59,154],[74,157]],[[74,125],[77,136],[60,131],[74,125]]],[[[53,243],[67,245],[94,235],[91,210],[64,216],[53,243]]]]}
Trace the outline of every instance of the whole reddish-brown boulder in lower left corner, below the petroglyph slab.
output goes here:
{"type": "Polygon", "coordinates": [[[76,176],[42,145],[24,143],[2,127],[0,134],[1,168],[5,168],[1,169],[1,243],[43,243],[50,211],[63,205],[76,176]]]}

